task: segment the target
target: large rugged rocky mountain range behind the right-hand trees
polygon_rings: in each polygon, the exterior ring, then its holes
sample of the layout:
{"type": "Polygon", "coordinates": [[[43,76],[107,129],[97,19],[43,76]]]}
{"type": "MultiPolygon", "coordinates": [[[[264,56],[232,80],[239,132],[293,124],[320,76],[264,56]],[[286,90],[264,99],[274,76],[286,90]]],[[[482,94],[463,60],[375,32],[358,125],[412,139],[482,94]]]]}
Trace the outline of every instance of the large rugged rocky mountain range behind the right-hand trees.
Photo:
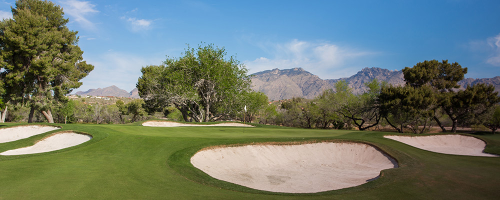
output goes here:
{"type": "MultiPolygon", "coordinates": [[[[338,79],[321,79],[302,68],[272,69],[253,73],[252,89],[264,92],[270,100],[288,99],[292,97],[314,98],[325,89],[333,88],[335,82],[345,80],[354,93],[366,91],[365,82],[376,78],[392,85],[404,84],[400,70],[388,70],[379,67],[363,68],[350,77],[338,79]]],[[[487,83],[500,91],[500,76],[493,78],[465,78],[458,82],[461,89],[467,84],[487,83]]]]}

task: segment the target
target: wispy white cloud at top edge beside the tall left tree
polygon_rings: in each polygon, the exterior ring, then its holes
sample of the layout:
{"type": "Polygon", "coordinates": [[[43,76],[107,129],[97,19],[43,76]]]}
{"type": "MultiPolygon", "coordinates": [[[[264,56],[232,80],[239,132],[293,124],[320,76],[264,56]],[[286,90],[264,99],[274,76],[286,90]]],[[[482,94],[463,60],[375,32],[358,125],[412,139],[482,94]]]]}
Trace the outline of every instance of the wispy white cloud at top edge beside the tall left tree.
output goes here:
{"type": "Polygon", "coordinates": [[[66,0],[62,1],[61,4],[64,13],[69,14],[76,22],[89,29],[95,28],[95,24],[87,16],[99,11],[95,9],[95,5],[90,1],[66,0]]]}

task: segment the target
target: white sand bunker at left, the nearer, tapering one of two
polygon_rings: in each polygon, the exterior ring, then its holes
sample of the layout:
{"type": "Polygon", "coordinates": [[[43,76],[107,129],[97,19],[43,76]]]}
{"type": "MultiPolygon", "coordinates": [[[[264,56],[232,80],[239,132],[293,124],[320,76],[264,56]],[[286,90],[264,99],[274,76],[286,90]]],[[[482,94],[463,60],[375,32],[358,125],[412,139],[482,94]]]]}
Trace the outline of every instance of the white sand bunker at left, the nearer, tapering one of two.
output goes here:
{"type": "Polygon", "coordinates": [[[20,155],[59,150],[78,145],[90,140],[91,138],[92,137],[90,135],[78,134],[74,132],[56,133],[36,142],[32,146],[3,151],[0,153],[0,155],[20,155]]]}

